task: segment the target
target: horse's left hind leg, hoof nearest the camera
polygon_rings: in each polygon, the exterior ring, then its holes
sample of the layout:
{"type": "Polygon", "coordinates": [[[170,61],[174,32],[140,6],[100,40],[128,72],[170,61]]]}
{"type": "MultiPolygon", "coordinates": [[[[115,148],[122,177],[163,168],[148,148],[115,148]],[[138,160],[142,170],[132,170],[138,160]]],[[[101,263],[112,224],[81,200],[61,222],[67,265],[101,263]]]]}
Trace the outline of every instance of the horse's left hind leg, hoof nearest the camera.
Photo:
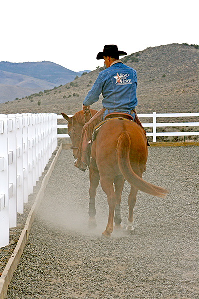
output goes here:
{"type": "Polygon", "coordinates": [[[110,181],[107,178],[103,178],[101,179],[101,187],[107,195],[109,205],[108,224],[102,235],[105,237],[110,237],[111,233],[113,232],[113,219],[116,206],[116,195],[114,192],[113,181],[110,181]]]}

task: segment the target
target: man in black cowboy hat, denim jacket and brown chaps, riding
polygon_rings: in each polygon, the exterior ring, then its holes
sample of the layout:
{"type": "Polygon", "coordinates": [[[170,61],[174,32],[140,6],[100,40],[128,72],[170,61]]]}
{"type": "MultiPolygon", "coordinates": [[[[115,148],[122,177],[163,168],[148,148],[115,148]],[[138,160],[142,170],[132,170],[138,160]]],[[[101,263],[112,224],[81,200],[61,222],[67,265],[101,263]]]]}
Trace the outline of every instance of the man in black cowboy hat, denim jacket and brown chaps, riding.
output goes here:
{"type": "MultiPolygon", "coordinates": [[[[119,51],[116,45],[105,45],[103,52],[98,53],[96,57],[98,60],[104,59],[106,69],[99,73],[82,105],[82,110],[85,113],[91,104],[99,100],[102,93],[103,108],[89,121],[90,124],[93,122],[93,128],[96,125],[93,119],[97,119],[98,116],[98,122],[100,122],[107,114],[113,112],[130,114],[135,120],[137,73],[133,68],[126,66],[119,60],[120,55],[127,55],[127,53],[119,51]]],[[[88,150],[82,149],[88,144],[88,141],[85,143],[84,140],[87,127],[83,128],[82,140],[78,150],[80,154],[74,162],[75,166],[82,171],[85,171],[87,165],[89,166],[88,150]]]]}

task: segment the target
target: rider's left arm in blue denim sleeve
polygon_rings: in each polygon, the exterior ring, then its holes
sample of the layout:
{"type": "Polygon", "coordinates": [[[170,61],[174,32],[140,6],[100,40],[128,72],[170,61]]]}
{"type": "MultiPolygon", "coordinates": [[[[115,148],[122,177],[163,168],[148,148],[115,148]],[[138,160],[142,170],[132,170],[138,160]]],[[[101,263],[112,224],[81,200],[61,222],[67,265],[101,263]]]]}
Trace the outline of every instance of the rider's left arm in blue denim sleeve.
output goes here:
{"type": "Polygon", "coordinates": [[[99,74],[91,90],[86,95],[83,101],[83,105],[88,106],[97,102],[100,97],[100,94],[102,93],[102,90],[103,90],[103,80],[102,80],[102,75],[99,74]]]}

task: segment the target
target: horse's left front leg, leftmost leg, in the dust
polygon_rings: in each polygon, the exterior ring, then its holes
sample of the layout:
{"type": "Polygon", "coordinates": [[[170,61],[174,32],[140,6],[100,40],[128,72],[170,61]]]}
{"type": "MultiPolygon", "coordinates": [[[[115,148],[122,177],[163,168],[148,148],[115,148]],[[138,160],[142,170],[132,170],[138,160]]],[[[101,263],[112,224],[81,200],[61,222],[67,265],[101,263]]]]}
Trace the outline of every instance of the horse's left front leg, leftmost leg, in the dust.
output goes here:
{"type": "Polygon", "coordinates": [[[96,189],[100,182],[100,175],[97,169],[92,166],[89,169],[89,228],[96,227],[96,208],[95,208],[95,197],[96,189]]]}

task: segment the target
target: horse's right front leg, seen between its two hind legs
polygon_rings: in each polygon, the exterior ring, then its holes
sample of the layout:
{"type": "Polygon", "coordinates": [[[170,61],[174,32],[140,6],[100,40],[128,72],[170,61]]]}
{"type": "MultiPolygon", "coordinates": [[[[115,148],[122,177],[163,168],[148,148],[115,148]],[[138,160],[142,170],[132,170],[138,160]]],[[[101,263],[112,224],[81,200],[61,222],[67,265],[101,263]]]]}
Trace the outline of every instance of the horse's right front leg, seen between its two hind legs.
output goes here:
{"type": "Polygon", "coordinates": [[[116,206],[115,206],[115,229],[121,229],[121,194],[124,186],[124,177],[121,175],[118,175],[114,179],[115,184],[115,195],[116,195],[116,206]]]}

